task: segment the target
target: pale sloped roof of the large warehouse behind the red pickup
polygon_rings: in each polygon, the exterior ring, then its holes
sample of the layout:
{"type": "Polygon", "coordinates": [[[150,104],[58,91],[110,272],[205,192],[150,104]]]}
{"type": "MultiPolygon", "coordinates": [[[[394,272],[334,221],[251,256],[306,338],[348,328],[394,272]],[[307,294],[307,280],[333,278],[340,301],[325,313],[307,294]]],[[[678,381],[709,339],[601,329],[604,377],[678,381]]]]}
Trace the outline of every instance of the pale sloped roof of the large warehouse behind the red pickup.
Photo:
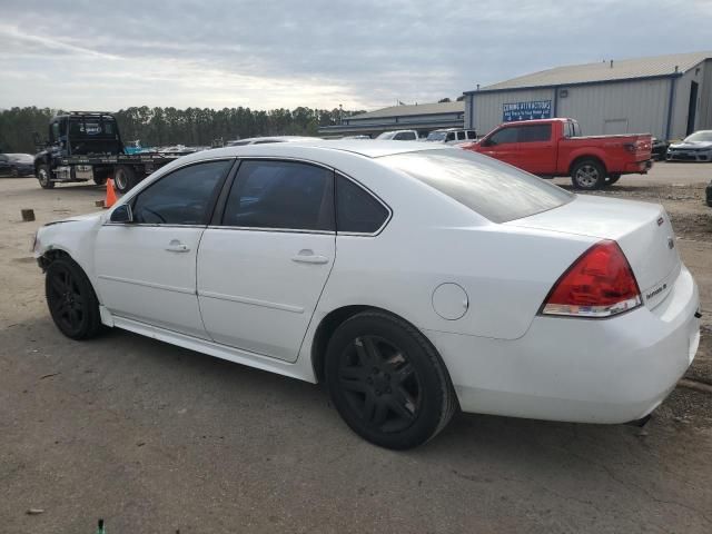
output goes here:
{"type": "Polygon", "coordinates": [[[611,60],[606,60],[595,63],[570,65],[520,76],[518,78],[483,87],[479,91],[467,91],[467,93],[672,76],[683,73],[705,59],[712,59],[712,52],[613,59],[612,63],[611,60]]]}

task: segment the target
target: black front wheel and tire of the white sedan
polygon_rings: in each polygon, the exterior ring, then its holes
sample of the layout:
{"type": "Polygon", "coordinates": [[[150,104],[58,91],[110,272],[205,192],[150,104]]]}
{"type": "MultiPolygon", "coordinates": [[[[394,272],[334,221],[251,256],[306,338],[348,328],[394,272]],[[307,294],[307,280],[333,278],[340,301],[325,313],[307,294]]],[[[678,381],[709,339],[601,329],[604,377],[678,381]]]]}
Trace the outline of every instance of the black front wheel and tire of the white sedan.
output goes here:
{"type": "Polygon", "coordinates": [[[58,258],[47,267],[44,293],[57,328],[71,339],[89,339],[99,334],[99,300],[85,271],[69,258],[58,258]]]}

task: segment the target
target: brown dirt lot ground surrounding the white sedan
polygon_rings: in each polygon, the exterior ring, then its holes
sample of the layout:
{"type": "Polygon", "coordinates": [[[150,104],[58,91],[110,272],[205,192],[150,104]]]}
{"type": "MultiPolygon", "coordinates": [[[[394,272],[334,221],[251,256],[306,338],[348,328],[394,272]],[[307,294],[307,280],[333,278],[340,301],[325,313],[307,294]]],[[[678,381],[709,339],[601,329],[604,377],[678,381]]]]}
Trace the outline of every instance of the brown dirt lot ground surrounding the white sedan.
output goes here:
{"type": "MultiPolygon", "coordinates": [[[[689,377],[708,384],[710,179],[712,165],[659,164],[599,192],[670,212],[702,298],[689,377]]],[[[110,533],[712,532],[711,394],[679,387],[642,431],[459,414],[394,453],[319,387],[127,332],[62,337],[30,241],[102,195],[0,179],[0,532],[89,533],[98,517],[110,533]]]]}

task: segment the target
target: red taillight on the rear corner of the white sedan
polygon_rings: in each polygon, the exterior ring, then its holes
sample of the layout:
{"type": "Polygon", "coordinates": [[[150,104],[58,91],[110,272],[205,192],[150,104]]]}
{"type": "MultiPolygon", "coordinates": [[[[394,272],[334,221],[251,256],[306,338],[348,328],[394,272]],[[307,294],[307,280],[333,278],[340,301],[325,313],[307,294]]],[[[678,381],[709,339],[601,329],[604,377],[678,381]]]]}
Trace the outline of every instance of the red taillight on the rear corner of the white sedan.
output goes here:
{"type": "Polygon", "coordinates": [[[610,317],[642,303],[637,281],[619,244],[595,244],[554,284],[543,315],[610,317]]]}

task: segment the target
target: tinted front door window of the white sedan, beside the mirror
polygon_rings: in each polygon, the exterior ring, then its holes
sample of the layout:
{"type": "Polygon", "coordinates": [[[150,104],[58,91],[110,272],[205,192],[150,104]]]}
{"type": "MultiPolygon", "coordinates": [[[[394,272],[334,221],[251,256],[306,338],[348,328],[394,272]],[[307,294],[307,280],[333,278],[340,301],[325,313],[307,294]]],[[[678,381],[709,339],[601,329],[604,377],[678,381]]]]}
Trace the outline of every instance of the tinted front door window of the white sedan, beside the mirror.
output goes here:
{"type": "Polygon", "coordinates": [[[148,225],[205,225],[208,208],[233,160],[207,161],[178,169],[140,191],[134,220],[148,225]]]}

